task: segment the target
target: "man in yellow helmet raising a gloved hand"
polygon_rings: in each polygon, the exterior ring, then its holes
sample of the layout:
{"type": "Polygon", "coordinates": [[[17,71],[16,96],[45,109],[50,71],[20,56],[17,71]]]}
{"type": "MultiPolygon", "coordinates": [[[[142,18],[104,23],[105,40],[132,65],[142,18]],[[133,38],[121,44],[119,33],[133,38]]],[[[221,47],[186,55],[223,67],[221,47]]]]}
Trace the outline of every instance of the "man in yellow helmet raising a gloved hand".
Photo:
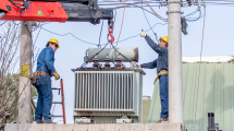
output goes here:
{"type": "MultiPolygon", "coordinates": [[[[141,37],[146,38],[148,45],[159,55],[156,60],[148,63],[139,64],[140,68],[155,69],[157,68],[157,78],[159,79],[160,87],[160,99],[161,99],[161,115],[158,123],[163,123],[169,121],[169,80],[168,80],[168,36],[161,37],[159,44],[156,44],[147,34],[143,31],[140,33],[141,37]]],[[[153,83],[153,84],[155,84],[153,83]]]]}

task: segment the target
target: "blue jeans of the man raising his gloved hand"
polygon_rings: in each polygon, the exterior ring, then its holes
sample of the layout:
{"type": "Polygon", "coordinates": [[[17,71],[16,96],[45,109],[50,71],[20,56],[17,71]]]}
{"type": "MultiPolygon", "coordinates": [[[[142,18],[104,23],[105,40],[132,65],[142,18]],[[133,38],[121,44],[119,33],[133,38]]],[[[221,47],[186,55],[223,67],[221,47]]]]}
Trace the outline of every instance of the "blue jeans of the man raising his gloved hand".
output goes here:
{"type": "Polygon", "coordinates": [[[159,78],[160,99],[161,99],[161,118],[169,117],[169,78],[161,75],[159,78]]]}

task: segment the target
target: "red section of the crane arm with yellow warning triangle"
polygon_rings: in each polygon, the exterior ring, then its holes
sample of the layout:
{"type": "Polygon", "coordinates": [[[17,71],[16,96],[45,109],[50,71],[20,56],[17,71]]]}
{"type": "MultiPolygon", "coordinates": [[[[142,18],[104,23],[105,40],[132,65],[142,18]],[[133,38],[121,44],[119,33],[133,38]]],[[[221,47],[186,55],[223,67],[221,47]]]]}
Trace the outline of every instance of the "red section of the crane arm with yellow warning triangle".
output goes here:
{"type": "Polygon", "coordinates": [[[8,21],[66,22],[69,19],[59,2],[32,1],[29,9],[22,10],[8,0],[1,0],[0,10],[7,11],[7,14],[1,20],[8,21]],[[11,11],[8,10],[7,4],[11,7],[11,11]]]}

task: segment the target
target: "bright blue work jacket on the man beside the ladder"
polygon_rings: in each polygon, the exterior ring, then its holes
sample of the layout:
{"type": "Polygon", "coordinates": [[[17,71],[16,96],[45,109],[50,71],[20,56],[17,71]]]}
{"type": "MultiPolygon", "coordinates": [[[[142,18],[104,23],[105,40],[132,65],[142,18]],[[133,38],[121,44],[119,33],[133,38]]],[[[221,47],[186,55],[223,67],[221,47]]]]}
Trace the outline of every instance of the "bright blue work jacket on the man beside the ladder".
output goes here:
{"type": "Polygon", "coordinates": [[[41,50],[37,58],[37,70],[44,71],[52,76],[52,73],[56,71],[53,67],[54,62],[54,51],[51,47],[46,47],[41,50]]]}

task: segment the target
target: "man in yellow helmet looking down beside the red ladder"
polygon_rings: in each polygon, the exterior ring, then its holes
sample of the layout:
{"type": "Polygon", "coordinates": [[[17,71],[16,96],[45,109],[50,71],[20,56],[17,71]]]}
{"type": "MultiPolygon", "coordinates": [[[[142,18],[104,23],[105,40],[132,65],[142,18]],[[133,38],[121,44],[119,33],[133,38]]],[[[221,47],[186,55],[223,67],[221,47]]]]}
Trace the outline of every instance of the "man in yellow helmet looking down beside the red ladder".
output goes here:
{"type": "Polygon", "coordinates": [[[53,75],[56,80],[60,79],[60,75],[53,67],[54,52],[59,47],[59,41],[51,38],[37,58],[37,69],[33,76],[33,84],[38,93],[35,112],[35,121],[37,123],[53,123],[50,115],[52,105],[51,76],[53,75]]]}

